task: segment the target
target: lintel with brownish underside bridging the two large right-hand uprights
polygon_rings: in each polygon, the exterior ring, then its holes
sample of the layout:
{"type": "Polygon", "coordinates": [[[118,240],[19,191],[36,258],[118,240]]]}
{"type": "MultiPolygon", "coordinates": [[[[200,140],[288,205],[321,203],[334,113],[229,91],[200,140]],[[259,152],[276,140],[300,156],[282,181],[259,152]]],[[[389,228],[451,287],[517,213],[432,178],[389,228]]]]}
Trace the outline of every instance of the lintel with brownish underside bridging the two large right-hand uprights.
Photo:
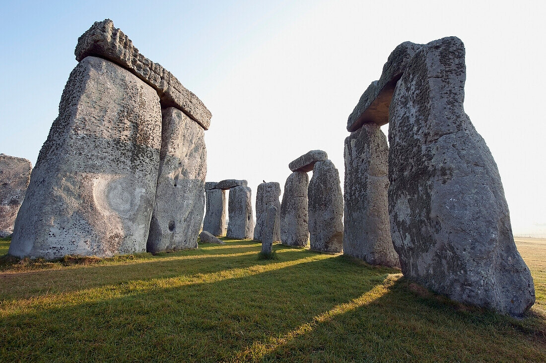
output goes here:
{"type": "Polygon", "coordinates": [[[379,126],[389,122],[389,105],[396,82],[402,76],[410,59],[423,45],[406,41],[390,53],[383,66],[381,78],[373,81],[364,91],[347,120],[347,130],[358,130],[364,123],[373,122],[379,126]]]}

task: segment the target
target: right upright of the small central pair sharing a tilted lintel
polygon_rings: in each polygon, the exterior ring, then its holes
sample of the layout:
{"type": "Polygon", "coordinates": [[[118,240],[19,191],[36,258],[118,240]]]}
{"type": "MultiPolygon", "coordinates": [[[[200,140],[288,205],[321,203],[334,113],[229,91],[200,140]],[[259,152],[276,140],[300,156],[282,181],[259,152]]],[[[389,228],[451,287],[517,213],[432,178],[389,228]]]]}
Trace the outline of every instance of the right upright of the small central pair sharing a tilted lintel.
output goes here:
{"type": "Polygon", "coordinates": [[[340,175],[331,160],[314,164],[307,191],[311,249],[341,252],[343,245],[343,194],[340,175]]]}

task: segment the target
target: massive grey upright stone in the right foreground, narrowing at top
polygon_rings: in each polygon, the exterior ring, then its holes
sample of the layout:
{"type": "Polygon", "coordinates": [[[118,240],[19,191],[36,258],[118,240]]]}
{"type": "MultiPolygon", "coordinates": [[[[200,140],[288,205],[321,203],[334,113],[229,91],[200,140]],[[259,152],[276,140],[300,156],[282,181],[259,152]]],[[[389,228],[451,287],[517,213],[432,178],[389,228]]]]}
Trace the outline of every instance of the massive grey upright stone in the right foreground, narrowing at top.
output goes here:
{"type": "Polygon", "coordinates": [[[465,49],[426,44],[390,105],[389,213],[404,275],[450,299],[521,315],[535,302],[497,165],[463,109],[465,49]]]}

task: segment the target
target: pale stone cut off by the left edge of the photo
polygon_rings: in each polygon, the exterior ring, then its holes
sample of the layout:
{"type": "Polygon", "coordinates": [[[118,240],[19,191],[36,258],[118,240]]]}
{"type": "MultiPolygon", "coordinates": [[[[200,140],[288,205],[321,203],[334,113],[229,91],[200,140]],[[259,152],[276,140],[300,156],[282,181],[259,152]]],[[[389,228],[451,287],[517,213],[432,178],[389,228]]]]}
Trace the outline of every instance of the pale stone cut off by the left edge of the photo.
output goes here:
{"type": "Polygon", "coordinates": [[[0,154],[0,237],[13,233],[17,212],[31,179],[32,164],[27,159],[0,154]]]}

